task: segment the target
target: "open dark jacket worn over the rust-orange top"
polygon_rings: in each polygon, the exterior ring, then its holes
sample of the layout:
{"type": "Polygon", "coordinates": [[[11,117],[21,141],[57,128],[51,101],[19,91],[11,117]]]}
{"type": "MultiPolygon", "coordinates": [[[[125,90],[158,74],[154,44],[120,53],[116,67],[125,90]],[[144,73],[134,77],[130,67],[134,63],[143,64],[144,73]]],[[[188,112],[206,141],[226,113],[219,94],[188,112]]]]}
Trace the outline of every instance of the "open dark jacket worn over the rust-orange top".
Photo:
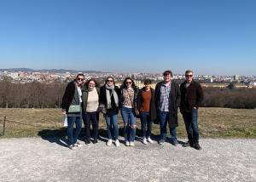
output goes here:
{"type": "MultiPolygon", "coordinates": [[[[145,88],[142,88],[139,90],[138,94],[137,94],[137,108],[138,110],[142,107],[143,104],[143,98],[142,98],[142,94],[143,94],[143,90],[145,90],[145,88]]],[[[150,100],[150,118],[152,121],[154,121],[156,119],[156,108],[155,108],[155,103],[154,103],[154,89],[150,88],[151,91],[151,100],[150,100]]]]}

